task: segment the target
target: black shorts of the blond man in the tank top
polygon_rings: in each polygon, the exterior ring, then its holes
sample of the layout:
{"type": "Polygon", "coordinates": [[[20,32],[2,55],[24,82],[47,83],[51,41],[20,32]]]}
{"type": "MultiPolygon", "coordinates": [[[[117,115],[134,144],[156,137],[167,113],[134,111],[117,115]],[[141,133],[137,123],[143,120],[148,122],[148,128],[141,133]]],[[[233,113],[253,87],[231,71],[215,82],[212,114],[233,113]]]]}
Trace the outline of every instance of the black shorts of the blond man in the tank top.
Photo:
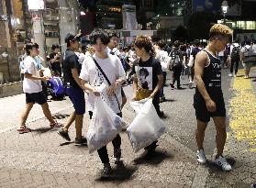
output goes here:
{"type": "Polygon", "coordinates": [[[223,94],[217,94],[217,96],[212,97],[212,100],[216,103],[215,112],[209,112],[207,110],[206,101],[201,95],[194,95],[194,108],[196,119],[207,123],[210,121],[211,116],[226,116],[226,107],[223,94]]]}

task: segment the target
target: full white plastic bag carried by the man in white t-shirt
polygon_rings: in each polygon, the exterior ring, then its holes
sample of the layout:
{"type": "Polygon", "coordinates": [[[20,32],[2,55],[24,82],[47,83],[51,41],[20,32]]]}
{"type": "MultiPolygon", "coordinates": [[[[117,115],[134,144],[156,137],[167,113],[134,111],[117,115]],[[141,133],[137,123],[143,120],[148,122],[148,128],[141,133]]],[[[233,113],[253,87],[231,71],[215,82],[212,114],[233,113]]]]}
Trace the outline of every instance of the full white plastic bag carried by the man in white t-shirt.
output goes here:
{"type": "Polygon", "coordinates": [[[117,116],[100,97],[95,100],[94,115],[90,121],[87,132],[89,153],[106,146],[107,143],[117,137],[122,127],[127,123],[122,117],[117,116]]]}

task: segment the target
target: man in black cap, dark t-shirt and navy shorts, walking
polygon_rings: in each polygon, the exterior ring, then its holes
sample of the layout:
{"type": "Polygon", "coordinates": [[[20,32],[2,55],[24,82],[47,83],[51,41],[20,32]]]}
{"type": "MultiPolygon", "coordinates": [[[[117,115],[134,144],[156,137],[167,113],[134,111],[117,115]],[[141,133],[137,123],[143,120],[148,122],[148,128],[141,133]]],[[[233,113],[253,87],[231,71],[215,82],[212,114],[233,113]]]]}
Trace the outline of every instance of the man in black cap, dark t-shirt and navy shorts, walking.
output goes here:
{"type": "Polygon", "coordinates": [[[87,144],[87,139],[82,135],[83,128],[83,114],[85,113],[85,99],[83,92],[83,85],[79,74],[81,72],[82,64],[79,62],[75,51],[79,50],[80,36],[74,36],[68,33],[65,37],[67,43],[67,50],[63,55],[63,79],[66,86],[66,93],[72,101],[74,111],[68,117],[64,127],[61,127],[57,132],[62,138],[71,141],[69,136],[69,128],[75,122],[75,146],[87,144]]]}

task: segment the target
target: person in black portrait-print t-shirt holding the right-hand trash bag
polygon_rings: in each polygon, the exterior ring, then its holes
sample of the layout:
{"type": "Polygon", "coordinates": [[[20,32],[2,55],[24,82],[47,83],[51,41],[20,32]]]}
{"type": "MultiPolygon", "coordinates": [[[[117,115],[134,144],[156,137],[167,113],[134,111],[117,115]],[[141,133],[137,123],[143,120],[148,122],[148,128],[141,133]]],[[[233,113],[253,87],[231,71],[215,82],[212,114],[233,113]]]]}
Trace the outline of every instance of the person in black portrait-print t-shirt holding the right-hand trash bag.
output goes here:
{"type": "MultiPolygon", "coordinates": [[[[160,91],[163,84],[161,62],[154,58],[155,50],[149,37],[139,36],[134,41],[134,49],[140,57],[134,63],[133,72],[133,96],[132,101],[144,98],[152,98],[152,103],[158,116],[164,116],[160,110],[160,91]]],[[[152,152],[157,147],[157,140],[153,141],[145,149],[152,152]]]]}

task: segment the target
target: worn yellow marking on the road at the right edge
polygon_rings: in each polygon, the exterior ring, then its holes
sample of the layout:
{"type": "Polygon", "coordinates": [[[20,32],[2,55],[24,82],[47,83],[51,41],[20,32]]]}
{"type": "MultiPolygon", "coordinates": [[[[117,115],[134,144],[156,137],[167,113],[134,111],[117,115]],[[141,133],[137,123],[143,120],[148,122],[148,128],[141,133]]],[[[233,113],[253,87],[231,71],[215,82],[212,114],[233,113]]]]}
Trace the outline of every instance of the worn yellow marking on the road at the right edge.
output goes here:
{"type": "Polygon", "coordinates": [[[229,127],[238,141],[246,141],[247,149],[256,152],[256,96],[250,79],[234,78],[233,91],[235,95],[229,100],[229,127]]]}

